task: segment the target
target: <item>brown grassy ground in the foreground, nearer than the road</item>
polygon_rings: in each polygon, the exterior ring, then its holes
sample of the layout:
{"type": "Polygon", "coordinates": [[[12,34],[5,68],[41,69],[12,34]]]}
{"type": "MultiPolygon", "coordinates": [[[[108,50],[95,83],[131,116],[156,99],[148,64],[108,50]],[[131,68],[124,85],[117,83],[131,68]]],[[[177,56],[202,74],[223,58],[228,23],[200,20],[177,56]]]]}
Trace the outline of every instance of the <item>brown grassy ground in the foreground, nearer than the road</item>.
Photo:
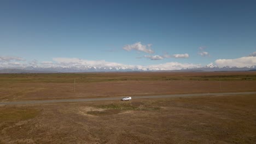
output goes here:
{"type": "Polygon", "coordinates": [[[256,95],[0,107],[0,143],[255,143],[256,95]]]}

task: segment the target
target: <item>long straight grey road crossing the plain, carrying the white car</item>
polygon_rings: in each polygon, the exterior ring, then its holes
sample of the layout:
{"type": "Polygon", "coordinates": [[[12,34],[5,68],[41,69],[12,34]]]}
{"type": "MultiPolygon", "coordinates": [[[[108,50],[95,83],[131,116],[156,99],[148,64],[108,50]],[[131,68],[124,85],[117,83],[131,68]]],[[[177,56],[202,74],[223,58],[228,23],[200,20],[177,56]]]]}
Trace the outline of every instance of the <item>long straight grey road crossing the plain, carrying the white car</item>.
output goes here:
{"type": "MultiPolygon", "coordinates": [[[[238,93],[199,93],[199,94],[171,94],[171,95],[148,95],[133,96],[132,99],[149,99],[149,98],[175,98],[175,97],[203,97],[203,96],[228,96],[228,95],[248,95],[256,92],[238,92],[238,93]]],[[[121,100],[120,97],[110,98],[88,98],[88,99],[60,99],[60,100],[30,100],[30,101],[4,101],[0,105],[33,105],[33,104],[50,104],[50,103],[75,103],[88,101],[106,101],[121,100]]]]}

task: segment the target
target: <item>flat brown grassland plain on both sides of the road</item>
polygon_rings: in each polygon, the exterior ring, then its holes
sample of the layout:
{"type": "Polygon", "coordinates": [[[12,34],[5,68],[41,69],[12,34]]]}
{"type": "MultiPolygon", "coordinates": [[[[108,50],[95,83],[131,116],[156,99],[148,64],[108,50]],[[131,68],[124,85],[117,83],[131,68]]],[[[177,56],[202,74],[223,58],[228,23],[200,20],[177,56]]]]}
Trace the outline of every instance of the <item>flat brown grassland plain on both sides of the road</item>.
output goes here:
{"type": "MultiPolygon", "coordinates": [[[[0,101],[255,91],[255,71],[0,75],[0,101]]],[[[0,143],[256,143],[255,111],[256,94],[2,105],[0,143]]]]}

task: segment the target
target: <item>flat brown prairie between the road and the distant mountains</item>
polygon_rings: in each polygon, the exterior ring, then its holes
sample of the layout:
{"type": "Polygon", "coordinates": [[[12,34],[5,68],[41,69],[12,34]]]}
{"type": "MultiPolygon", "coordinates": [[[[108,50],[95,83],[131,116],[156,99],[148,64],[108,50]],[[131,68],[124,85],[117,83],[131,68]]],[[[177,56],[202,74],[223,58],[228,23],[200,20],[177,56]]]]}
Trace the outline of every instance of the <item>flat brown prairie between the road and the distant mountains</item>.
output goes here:
{"type": "Polygon", "coordinates": [[[252,91],[255,71],[0,75],[1,101],[252,91]]]}

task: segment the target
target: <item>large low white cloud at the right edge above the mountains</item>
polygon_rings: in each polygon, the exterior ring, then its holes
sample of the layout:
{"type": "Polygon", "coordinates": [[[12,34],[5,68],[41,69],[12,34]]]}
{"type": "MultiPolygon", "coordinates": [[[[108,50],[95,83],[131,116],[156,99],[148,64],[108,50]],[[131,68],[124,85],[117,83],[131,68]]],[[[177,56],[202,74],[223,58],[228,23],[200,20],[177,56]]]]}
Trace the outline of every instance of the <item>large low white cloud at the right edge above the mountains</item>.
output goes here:
{"type": "Polygon", "coordinates": [[[256,65],[256,57],[240,57],[236,59],[217,59],[214,62],[219,67],[231,66],[231,67],[251,67],[256,65]]]}

